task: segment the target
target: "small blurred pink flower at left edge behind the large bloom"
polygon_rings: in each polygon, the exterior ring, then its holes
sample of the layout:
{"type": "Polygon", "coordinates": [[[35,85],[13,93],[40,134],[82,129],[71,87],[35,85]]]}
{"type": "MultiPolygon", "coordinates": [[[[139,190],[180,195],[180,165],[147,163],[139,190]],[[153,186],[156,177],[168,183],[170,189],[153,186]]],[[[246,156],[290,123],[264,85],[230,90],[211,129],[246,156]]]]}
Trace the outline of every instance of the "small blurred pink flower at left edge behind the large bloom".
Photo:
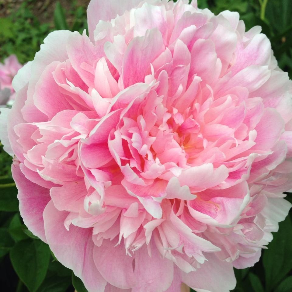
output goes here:
{"type": "Polygon", "coordinates": [[[12,87],[12,79],[17,71],[22,68],[15,55],[10,55],[0,63],[0,106],[13,103],[16,93],[12,87]]]}

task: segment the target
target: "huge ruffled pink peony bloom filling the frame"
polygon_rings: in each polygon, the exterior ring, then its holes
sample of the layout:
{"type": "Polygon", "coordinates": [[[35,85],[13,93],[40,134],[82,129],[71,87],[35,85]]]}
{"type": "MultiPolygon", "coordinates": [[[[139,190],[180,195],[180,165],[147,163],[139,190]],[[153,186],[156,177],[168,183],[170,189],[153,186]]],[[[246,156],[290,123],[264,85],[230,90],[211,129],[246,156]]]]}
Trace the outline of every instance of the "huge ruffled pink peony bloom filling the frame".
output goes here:
{"type": "Polygon", "coordinates": [[[292,82],[236,12],[92,0],[13,80],[25,224],[89,292],[227,292],[291,205],[292,82]]]}

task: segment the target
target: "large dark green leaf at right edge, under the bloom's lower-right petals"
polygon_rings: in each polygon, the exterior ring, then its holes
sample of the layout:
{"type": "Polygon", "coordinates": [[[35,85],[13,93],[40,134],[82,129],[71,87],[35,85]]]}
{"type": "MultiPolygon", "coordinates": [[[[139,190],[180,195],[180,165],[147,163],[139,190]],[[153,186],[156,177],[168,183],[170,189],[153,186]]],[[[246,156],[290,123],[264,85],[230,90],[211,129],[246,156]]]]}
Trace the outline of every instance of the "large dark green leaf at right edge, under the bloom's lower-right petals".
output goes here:
{"type": "Polygon", "coordinates": [[[271,291],[292,269],[292,224],[289,216],[280,222],[279,231],[263,254],[266,289],[271,291]]]}

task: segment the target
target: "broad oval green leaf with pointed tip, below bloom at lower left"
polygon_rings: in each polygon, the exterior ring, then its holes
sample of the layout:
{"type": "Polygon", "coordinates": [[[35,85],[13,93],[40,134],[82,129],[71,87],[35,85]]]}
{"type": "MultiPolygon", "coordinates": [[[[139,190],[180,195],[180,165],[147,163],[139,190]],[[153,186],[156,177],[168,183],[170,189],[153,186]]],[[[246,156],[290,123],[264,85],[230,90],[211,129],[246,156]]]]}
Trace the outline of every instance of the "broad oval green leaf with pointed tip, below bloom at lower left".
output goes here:
{"type": "Polygon", "coordinates": [[[35,292],[43,282],[49,262],[50,249],[40,240],[23,240],[12,248],[10,259],[20,280],[30,292],[35,292]]]}

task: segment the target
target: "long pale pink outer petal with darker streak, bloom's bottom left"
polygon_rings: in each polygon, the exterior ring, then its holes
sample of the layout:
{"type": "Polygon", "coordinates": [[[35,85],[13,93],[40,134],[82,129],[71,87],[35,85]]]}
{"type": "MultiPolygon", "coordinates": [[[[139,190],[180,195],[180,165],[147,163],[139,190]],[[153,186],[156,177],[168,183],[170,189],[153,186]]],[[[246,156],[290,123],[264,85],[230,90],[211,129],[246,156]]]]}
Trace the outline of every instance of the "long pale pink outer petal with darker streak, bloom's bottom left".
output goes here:
{"type": "Polygon", "coordinates": [[[100,275],[93,261],[92,229],[71,225],[67,231],[64,221],[66,211],[58,211],[53,201],[43,212],[45,233],[50,249],[57,259],[72,269],[89,292],[104,292],[106,280],[100,275]]]}

